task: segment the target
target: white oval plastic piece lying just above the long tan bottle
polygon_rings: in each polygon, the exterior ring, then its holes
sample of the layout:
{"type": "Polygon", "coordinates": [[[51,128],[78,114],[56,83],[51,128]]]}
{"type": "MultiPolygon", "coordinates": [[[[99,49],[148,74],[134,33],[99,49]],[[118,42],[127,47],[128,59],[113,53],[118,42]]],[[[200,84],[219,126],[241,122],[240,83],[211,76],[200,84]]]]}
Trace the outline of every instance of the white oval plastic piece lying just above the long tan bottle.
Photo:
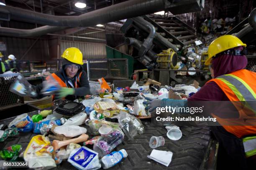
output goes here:
{"type": "Polygon", "coordinates": [[[59,134],[59,135],[65,135],[67,137],[75,137],[77,135],[81,135],[83,133],[86,133],[87,130],[86,128],[82,128],[77,125],[62,125],[62,126],[57,126],[54,128],[54,132],[59,134]]]}

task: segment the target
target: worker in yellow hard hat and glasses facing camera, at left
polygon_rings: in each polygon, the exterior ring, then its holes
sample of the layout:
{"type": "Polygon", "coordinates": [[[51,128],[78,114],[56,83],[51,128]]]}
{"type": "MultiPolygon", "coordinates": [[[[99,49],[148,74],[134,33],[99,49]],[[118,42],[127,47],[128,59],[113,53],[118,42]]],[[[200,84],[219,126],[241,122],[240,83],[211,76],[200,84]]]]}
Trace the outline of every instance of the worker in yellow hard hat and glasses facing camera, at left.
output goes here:
{"type": "MultiPolygon", "coordinates": [[[[62,68],[52,75],[59,82],[61,89],[53,95],[53,100],[65,98],[75,100],[90,93],[90,86],[86,72],[83,70],[83,55],[76,47],[67,48],[63,54],[62,68]]],[[[38,94],[43,88],[37,85],[38,94]]]]}

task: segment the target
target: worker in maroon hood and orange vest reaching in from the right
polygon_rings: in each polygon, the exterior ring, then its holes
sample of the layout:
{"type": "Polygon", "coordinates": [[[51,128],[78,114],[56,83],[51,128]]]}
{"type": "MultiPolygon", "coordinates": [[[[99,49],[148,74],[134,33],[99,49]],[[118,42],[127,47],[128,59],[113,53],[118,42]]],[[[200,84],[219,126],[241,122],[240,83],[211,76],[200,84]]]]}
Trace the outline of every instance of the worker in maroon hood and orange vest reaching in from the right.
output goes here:
{"type": "MultiPolygon", "coordinates": [[[[223,35],[213,40],[208,47],[208,59],[213,79],[208,81],[198,92],[188,100],[148,99],[144,104],[146,109],[154,112],[156,107],[184,107],[190,101],[252,101],[251,112],[256,110],[256,72],[246,70],[247,57],[243,55],[246,47],[238,37],[223,35]]],[[[234,102],[232,102],[234,103],[234,102]]],[[[251,102],[250,102],[251,103],[251,102]]],[[[244,107],[243,107],[244,108],[244,107]]],[[[245,109],[245,108],[244,108],[245,109]]],[[[218,169],[245,170],[256,169],[256,125],[231,126],[222,124],[223,121],[245,120],[239,118],[248,114],[248,110],[237,110],[238,117],[217,119],[220,126],[210,126],[212,133],[219,143],[218,169]],[[219,160],[222,161],[219,163],[219,160]]],[[[255,114],[247,121],[255,122],[255,114]]]]}

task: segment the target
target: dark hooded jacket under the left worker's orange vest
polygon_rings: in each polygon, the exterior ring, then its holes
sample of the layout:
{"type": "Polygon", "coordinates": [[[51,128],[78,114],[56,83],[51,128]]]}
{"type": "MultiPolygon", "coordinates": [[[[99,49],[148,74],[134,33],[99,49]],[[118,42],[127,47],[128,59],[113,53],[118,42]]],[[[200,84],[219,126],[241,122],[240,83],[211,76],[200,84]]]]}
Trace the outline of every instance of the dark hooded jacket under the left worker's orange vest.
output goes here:
{"type": "MultiPolygon", "coordinates": [[[[88,77],[87,77],[86,72],[83,70],[82,65],[79,65],[80,68],[77,71],[77,74],[74,76],[74,78],[73,79],[69,79],[67,77],[67,74],[66,74],[65,70],[64,70],[64,67],[67,64],[74,64],[74,63],[64,59],[63,62],[62,62],[61,70],[55,72],[55,74],[58,77],[60,77],[63,82],[66,83],[67,87],[70,87],[69,83],[67,83],[68,81],[72,82],[72,84],[75,86],[74,82],[76,81],[76,78],[79,77],[79,74],[81,72],[82,72],[82,75],[80,77],[79,83],[77,83],[79,85],[79,87],[75,88],[74,95],[68,95],[67,97],[65,97],[65,99],[67,99],[67,100],[75,100],[75,99],[77,99],[80,96],[84,96],[84,95],[90,94],[90,85],[89,85],[88,77]]],[[[43,88],[42,84],[36,86],[36,91],[38,92],[38,94],[40,93],[42,88],[43,88]]],[[[41,97],[43,97],[43,96],[41,96],[41,95],[38,96],[38,98],[41,98],[41,97]]]]}

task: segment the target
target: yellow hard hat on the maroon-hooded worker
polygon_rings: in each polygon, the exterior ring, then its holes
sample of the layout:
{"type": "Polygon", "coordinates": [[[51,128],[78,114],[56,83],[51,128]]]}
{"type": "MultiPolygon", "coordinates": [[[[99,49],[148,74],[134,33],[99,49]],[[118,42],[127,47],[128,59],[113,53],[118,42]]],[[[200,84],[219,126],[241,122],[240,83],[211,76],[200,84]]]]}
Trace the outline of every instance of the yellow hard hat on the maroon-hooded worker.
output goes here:
{"type": "Polygon", "coordinates": [[[206,60],[205,65],[209,65],[212,57],[214,57],[216,54],[239,46],[246,47],[246,44],[244,44],[238,37],[234,35],[223,35],[216,38],[208,47],[208,59],[206,60]]]}

